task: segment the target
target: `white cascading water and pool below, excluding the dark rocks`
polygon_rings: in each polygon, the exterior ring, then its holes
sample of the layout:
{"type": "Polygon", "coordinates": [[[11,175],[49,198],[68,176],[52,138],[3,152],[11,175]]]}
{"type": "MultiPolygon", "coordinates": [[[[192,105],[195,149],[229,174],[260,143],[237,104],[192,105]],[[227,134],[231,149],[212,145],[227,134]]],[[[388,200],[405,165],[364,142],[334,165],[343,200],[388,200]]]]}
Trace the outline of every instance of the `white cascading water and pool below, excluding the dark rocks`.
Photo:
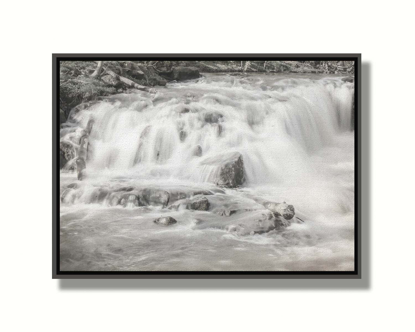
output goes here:
{"type": "Polygon", "coordinates": [[[205,74],[74,114],[61,141],[77,147],[91,119],[93,129],[83,181],[61,171],[61,270],[353,270],[353,92],[337,76],[205,74]],[[218,188],[220,165],[236,153],[244,183],[218,188]],[[123,207],[119,188],[164,190],[171,200],[123,207]],[[172,208],[174,193],[200,190],[212,194],[209,211],[172,208]],[[264,215],[253,197],[293,204],[304,222],[234,232],[264,215]],[[152,222],[162,215],[177,224],[152,222]]]}

